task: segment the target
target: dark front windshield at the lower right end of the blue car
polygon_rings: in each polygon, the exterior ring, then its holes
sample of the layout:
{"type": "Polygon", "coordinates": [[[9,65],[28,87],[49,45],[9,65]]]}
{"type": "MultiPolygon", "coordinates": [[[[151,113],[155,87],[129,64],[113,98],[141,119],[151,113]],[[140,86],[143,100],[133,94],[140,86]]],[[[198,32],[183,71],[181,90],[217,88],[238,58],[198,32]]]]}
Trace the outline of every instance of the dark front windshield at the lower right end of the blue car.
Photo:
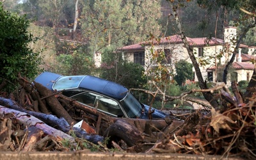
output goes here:
{"type": "Polygon", "coordinates": [[[120,103],[124,107],[125,113],[129,118],[138,118],[142,111],[141,103],[128,92],[124,99],[120,100],[120,103]]]}

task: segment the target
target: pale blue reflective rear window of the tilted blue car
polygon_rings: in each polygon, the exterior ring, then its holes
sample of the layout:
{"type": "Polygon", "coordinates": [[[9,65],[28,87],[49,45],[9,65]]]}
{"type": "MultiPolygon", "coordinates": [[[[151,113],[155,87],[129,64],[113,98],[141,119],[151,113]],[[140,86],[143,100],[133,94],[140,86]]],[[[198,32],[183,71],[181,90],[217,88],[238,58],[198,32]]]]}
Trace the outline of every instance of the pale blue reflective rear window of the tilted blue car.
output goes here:
{"type": "Polygon", "coordinates": [[[70,88],[77,88],[84,76],[63,76],[56,80],[53,84],[54,90],[67,90],[70,88]]]}

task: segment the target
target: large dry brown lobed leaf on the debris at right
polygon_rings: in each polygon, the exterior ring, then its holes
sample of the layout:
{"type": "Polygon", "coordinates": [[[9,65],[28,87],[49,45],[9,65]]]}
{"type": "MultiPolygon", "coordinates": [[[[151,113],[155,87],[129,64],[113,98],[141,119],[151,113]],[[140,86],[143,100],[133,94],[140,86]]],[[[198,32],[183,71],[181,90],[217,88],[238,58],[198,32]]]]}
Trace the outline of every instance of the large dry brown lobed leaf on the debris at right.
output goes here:
{"type": "Polygon", "coordinates": [[[236,123],[234,122],[232,119],[230,119],[228,116],[224,116],[222,114],[220,114],[218,111],[216,111],[214,108],[211,109],[211,113],[212,113],[212,120],[210,125],[213,127],[213,129],[216,132],[220,132],[220,129],[228,129],[228,130],[232,130],[227,122],[230,122],[232,124],[236,123]]]}

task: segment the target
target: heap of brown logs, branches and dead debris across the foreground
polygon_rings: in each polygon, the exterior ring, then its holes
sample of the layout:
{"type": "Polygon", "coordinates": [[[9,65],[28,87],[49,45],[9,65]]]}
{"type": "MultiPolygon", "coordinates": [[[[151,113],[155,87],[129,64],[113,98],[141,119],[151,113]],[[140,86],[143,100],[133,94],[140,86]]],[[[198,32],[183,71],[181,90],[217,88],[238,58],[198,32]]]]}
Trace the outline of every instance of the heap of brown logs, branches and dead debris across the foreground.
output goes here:
{"type": "Polygon", "coordinates": [[[184,121],[172,116],[165,120],[113,118],[20,77],[19,92],[1,93],[0,150],[90,149],[255,159],[255,95],[244,99],[236,83],[232,83],[233,94],[225,85],[191,92],[215,92],[220,108],[211,108],[207,114],[198,110],[184,121]]]}

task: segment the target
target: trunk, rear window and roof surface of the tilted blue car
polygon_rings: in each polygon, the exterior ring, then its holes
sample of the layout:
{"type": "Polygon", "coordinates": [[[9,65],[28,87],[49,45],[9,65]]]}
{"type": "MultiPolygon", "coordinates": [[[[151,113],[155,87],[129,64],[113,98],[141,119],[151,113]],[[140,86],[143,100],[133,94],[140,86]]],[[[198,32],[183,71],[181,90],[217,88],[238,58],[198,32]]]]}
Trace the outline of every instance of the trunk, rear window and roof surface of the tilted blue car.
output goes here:
{"type": "Polygon", "coordinates": [[[68,91],[76,88],[84,88],[118,100],[124,99],[128,92],[128,89],[120,84],[88,75],[61,76],[52,72],[43,72],[36,77],[35,81],[43,84],[49,90],[68,91]]]}

